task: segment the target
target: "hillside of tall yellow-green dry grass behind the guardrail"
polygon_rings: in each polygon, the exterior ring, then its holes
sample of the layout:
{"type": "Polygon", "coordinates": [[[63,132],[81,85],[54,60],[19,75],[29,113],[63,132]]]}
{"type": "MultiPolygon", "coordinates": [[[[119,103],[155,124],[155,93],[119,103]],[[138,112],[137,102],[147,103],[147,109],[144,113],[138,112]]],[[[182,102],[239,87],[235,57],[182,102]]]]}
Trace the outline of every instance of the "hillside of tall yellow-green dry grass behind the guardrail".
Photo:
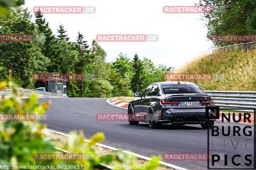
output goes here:
{"type": "Polygon", "coordinates": [[[256,91],[256,50],[235,50],[199,56],[175,72],[224,76],[221,80],[194,81],[204,90],[256,91]]]}

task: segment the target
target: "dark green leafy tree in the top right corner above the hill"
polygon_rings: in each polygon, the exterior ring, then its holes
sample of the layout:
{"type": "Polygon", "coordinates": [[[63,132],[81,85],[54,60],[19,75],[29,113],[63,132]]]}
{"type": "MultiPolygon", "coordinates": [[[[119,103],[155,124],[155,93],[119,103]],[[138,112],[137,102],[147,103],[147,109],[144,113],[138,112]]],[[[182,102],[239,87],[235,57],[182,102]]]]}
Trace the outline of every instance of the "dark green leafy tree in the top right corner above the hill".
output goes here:
{"type": "MultiPolygon", "coordinates": [[[[210,5],[214,9],[203,17],[208,39],[214,34],[256,34],[256,1],[200,0],[199,5],[210,5]]],[[[215,43],[219,47],[231,44],[235,43],[215,43]]]]}

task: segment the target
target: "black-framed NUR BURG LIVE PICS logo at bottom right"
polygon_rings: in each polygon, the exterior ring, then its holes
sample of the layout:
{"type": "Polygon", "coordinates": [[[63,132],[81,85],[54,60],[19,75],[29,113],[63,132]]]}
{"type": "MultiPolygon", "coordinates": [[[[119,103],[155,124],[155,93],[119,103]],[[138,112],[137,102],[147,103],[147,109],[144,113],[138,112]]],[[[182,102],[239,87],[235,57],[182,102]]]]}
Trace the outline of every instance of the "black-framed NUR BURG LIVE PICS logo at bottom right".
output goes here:
{"type": "Polygon", "coordinates": [[[255,169],[256,109],[225,108],[223,112],[219,107],[205,109],[208,169],[255,169]],[[212,126],[211,119],[219,121],[212,126]]]}

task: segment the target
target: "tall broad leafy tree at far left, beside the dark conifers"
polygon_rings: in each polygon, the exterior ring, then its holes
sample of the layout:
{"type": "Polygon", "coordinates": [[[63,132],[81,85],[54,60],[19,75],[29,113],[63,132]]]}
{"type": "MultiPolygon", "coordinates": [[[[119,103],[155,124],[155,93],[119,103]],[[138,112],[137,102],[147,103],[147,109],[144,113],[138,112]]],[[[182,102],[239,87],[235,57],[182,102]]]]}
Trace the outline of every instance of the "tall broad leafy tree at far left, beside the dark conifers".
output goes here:
{"type": "Polygon", "coordinates": [[[49,61],[42,55],[41,47],[44,44],[44,37],[41,35],[34,23],[31,22],[31,15],[27,9],[13,7],[7,16],[0,20],[0,34],[32,34],[37,35],[33,42],[1,42],[0,43],[0,66],[3,67],[0,73],[3,79],[7,79],[7,70],[12,70],[15,82],[26,88],[34,88],[33,73],[43,71],[49,61]],[[40,64],[40,60],[45,62],[40,64]],[[39,63],[38,63],[39,62],[39,63]]]}

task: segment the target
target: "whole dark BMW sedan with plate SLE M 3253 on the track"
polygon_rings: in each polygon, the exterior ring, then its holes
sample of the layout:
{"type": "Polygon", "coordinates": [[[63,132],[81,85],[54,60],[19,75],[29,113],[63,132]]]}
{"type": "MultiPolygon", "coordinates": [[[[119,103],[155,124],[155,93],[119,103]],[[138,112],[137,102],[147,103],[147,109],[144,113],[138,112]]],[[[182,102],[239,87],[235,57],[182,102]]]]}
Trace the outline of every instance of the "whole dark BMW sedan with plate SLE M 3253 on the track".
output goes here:
{"type": "MultiPolygon", "coordinates": [[[[200,124],[206,129],[205,106],[214,106],[212,98],[191,82],[152,83],[142,93],[134,93],[134,96],[137,98],[130,101],[128,106],[129,124],[146,122],[150,128],[171,123],[200,124]]],[[[214,121],[210,120],[210,127],[214,121]]]]}

